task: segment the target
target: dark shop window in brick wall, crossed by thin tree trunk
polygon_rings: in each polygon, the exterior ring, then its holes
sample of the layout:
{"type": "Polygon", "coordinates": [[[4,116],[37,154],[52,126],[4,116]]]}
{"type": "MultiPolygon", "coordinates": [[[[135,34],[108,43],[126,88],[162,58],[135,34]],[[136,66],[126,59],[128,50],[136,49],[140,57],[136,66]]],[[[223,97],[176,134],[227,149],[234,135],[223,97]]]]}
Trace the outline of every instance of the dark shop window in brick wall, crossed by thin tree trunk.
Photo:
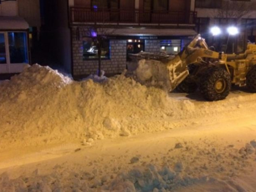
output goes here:
{"type": "MultiPolygon", "coordinates": [[[[91,37],[83,38],[83,60],[97,59],[98,49],[91,37]]],[[[105,39],[101,48],[101,58],[110,58],[110,40],[105,39]]]]}

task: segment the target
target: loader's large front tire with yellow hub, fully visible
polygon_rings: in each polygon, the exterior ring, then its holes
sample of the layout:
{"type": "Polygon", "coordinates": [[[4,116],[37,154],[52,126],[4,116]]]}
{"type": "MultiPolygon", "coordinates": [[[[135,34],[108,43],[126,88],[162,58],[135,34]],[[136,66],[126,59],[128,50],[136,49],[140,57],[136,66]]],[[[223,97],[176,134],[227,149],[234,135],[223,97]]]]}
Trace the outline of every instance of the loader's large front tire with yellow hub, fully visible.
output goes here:
{"type": "Polygon", "coordinates": [[[231,87],[230,75],[222,68],[210,68],[201,77],[200,92],[206,100],[225,99],[231,87]]]}

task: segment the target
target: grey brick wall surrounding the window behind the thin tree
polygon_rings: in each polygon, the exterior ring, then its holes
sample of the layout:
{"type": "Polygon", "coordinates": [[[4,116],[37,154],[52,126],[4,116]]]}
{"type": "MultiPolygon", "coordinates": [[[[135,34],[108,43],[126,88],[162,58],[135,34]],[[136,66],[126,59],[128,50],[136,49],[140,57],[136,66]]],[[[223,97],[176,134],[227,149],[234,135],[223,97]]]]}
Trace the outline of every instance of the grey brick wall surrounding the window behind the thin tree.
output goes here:
{"type": "MultiPolygon", "coordinates": [[[[76,28],[72,29],[73,75],[95,74],[98,60],[83,60],[82,36],[86,28],[79,28],[80,38],[77,39],[76,28]]],[[[110,59],[101,61],[101,70],[106,74],[121,73],[126,69],[126,40],[110,39],[110,59]]]]}

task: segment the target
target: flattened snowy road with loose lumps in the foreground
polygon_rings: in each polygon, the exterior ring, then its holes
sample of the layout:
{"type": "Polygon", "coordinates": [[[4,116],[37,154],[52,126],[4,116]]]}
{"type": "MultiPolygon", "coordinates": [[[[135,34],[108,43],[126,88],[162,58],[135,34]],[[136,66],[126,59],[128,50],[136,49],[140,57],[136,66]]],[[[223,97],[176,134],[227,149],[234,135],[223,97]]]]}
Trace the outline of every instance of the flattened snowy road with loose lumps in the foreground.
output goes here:
{"type": "Polygon", "coordinates": [[[135,191],[130,182],[136,191],[256,191],[255,150],[239,153],[255,138],[256,119],[248,117],[91,146],[63,143],[1,161],[0,167],[23,163],[1,169],[1,177],[9,176],[10,186],[19,178],[29,191],[135,191]]]}

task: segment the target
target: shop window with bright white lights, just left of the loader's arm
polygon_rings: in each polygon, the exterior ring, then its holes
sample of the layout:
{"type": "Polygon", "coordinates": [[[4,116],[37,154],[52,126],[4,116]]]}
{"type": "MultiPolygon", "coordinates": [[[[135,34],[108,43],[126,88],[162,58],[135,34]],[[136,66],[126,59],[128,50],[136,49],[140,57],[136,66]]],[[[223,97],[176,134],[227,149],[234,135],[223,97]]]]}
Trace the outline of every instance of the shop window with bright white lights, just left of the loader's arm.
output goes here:
{"type": "Polygon", "coordinates": [[[164,52],[167,55],[175,55],[181,51],[181,40],[161,40],[160,41],[160,52],[164,52]]]}

